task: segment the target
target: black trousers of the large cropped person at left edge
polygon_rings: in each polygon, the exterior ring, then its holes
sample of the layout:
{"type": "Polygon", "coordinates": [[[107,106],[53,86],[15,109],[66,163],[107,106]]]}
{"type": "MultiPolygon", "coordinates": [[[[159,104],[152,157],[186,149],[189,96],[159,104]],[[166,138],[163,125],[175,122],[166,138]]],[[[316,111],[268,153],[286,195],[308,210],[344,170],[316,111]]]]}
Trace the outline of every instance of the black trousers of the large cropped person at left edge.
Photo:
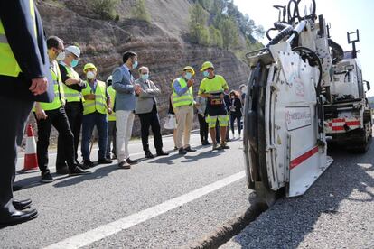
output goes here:
{"type": "Polygon", "coordinates": [[[24,124],[33,107],[33,101],[0,97],[0,220],[14,212],[13,182],[17,162],[17,138],[23,136],[24,124]]]}

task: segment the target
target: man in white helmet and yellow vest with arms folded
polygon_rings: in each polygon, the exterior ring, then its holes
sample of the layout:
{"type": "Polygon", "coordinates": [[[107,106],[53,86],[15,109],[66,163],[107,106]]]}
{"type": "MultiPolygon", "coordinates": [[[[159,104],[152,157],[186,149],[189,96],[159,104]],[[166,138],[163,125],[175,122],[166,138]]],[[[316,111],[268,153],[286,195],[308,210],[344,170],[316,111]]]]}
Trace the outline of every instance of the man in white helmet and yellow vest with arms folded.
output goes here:
{"type": "MultiPolygon", "coordinates": [[[[64,60],[60,61],[60,71],[65,93],[65,111],[68,115],[71,132],[74,135],[74,157],[75,163],[83,169],[88,169],[84,165],[79,164],[78,161],[78,145],[80,126],[82,125],[83,118],[83,97],[81,95],[82,89],[86,88],[86,82],[79,78],[79,74],[74,70],[78,65],[80,49],[77,46],[69,46],[65,48],[64,60]]],[[[66,155],[64,152],[64,145],[59,136],[58,142],[59,151],[57,152],[56,168],[66,166],[66,155]]]]}

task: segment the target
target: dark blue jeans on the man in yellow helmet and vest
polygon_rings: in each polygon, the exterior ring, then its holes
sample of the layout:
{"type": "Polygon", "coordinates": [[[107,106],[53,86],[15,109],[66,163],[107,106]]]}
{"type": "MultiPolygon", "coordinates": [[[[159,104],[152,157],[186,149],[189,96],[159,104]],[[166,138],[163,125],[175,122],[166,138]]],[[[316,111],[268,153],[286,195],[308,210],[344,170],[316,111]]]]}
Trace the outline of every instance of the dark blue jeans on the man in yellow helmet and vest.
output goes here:
{"type": "Polygon", "coordinates": [[[89,140],[95,125],[98,128],[98,159],[105,158],[108,143],[108,118],[107,115],[95,112],[83,115],[81,144],[83,160],[89,160],[89,140]]]}

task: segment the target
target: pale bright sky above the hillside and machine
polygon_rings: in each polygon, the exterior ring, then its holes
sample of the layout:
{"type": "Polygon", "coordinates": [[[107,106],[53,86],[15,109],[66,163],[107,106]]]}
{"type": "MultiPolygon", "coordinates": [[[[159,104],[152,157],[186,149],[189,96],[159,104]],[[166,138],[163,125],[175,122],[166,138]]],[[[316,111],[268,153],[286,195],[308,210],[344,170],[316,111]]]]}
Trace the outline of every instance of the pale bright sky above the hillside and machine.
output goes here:
{"type": "MultiPolygon", "coordinates": [[[[310,5],[312,1],[302,1],[302,5],[310,5]],[[304,3],[304,4],[303,4],[304,3]]],[[[243,14],[248,14],[257,25],[265,30],[273,26],[277,19],[277,11],[273,5],[287,5],[287,0],[234,0],[243,14]],[[256,3],[256,4],[255,4],[256,3]]],[[[374,1],[369,0],[316,0],[317,14],[323,14],[326,23],[331,23],[330,34],[334,42],[338,42],[345,50],[351,50],[347,42],[347,32],[360,30],[360,42],[356,44],[360,53],[358,58],[362,67],[363,78],[371,83],[369,96],[374,96],[374,1]]],[[[304,7],[303,7],[304,10],[304,7]]],[[[264,40],[267,42],[267,39],[264,40]]]]}

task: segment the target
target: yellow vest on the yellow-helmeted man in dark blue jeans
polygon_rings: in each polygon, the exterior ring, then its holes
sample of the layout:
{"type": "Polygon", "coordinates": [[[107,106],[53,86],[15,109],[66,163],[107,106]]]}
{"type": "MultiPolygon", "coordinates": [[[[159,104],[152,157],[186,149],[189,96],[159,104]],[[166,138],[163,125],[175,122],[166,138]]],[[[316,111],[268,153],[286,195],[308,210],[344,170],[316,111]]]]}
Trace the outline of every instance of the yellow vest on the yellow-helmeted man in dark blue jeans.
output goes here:
{"type": "MultiPolygon", "coordinates": [[[[85,99],[83,103],[83,115],[89,115],[96,111],[100,114],[107,114],[107,95],[106,95],[107,86],[103,81],[97,80],[97,86],[95,89],[95,100],[85,99]]],[[[92,88],[87,82],[87,88],[82,90],[82,95],[89,95],[93,93],[92,88]]]]}

